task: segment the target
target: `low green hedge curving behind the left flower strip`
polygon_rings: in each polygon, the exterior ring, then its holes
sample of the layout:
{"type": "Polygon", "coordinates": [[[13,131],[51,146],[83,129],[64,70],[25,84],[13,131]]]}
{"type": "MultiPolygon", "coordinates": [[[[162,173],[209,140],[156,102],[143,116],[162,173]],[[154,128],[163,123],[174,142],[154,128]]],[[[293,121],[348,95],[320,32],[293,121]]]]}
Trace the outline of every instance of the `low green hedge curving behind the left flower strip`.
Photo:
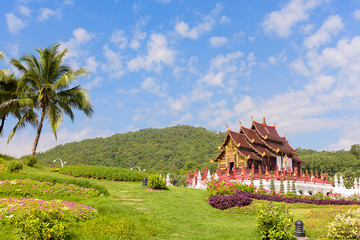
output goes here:
{"type": "Polygon", "coordinates": [[[63,178],[57,178],[57,177],[51,177],[45,175],[34,175],[27,173],[12,173],[12,174],[6,172],[0,173],[0,180],[12,180],[12,179],[33,179],[39,182],[50,182],[52,184],[56,184],[56,183],[74,184],[84,188],[93,188],[95,190],[98,190],[100,193],[104,195],[109,195],[108,190],[104,186],[91,183],[86,179],[63,179],[63,178]]]}

